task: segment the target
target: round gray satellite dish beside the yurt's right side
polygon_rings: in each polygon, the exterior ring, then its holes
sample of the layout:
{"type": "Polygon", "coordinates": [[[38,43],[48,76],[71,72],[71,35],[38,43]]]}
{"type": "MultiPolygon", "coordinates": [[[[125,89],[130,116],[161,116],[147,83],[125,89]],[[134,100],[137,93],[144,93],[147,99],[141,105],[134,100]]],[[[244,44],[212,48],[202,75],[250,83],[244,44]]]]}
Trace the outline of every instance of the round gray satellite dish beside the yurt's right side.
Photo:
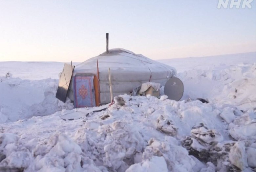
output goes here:
{"type": "Polygon", "coordinates": [[[172,77],[164,85],[163,92],[168,99],[179,101],[184,92],[184,85],[179,78],[172,77]]]}

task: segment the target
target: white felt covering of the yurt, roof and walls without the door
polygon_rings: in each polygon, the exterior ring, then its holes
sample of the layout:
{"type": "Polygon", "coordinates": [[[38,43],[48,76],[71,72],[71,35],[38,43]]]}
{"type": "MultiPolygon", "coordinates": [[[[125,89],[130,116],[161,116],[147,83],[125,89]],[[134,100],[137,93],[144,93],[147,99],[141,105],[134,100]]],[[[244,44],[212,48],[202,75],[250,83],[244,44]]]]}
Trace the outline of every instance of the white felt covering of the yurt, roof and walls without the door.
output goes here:
{"type": "MultiPolygon", "coordinates": [[[[111,70],[113,95],[129,94],[133,88],[145,82],[156,82],[164,85],[168,78],[176,75],[176,69],[151,60],[129,50],[110,49],[96,57],[75,66],[74,74],[97,74],[99,67],[100,102],[111,102],[108,68],[111,70]]],[[[69,97],[73,99],[72,93],[69,97]]]]}

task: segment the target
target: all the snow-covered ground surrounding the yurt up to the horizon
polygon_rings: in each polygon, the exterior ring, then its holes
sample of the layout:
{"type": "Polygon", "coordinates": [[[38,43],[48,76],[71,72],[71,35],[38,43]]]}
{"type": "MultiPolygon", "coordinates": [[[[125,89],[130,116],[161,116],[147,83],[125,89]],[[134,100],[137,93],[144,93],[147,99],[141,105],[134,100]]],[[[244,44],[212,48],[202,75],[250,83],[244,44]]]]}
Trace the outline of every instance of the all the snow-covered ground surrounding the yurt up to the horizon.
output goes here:
{"type": "Polygon", "coordinates": [[[0,62],[0,171],[256,171],[256,52],[160,62],[181,101],[120,95],[91,113],[55,98],[63,63],[0,62]]]}

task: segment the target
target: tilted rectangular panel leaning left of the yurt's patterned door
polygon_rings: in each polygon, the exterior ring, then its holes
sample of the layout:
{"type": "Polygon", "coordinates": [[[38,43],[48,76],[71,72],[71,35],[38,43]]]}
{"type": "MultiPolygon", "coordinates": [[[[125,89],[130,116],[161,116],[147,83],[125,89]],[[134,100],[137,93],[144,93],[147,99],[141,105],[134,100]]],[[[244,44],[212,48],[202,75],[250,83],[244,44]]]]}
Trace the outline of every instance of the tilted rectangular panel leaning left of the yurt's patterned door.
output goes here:
{"type": "Polygon", "coordinates": [[[64,103],[67,98],[67,93],[68,93],[68,89],[70,86],[70,81],[72,79],[74,69],[75,69],[74,65],[65,63],[63,67],[63,71],[60,75],[56,98],[63,101],[64,103]]]}

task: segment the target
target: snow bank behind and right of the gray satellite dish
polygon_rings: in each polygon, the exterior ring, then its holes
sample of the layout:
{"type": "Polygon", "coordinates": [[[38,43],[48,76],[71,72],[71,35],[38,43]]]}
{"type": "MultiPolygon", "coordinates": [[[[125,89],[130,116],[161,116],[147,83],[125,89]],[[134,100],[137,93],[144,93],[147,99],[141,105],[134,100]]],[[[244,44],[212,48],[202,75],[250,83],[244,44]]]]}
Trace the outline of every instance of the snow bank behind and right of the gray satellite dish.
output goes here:
{"type": "Polygon", "coordinates": [[[220,107],[234,105],[243,111],[256,107],[255,62],[190,70],[179,73],[178,77],[184,83],[182,100],[200,97],[220,107]]]}

